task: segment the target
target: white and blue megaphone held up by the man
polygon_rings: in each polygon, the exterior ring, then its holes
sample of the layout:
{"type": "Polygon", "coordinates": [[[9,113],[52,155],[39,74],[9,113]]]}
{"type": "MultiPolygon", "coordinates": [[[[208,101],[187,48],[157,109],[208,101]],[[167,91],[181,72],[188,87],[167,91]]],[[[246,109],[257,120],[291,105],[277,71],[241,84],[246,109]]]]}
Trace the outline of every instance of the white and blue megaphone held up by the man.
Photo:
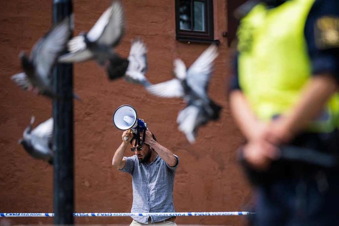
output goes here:
{"type": "MultiPolygon", "coordinates": [[[[113,123],[120,130],[132,129],[133,133],[137,133],[138,129],[147,128],[144,120],[138,119],[137,111],[131,105],[121,105],[118,107],[113,114],[113,123]],[[138,128],[138,125],[140,128],[138,128]]],[[[128,140],[128,137],[123,139],[128,140]]]]}

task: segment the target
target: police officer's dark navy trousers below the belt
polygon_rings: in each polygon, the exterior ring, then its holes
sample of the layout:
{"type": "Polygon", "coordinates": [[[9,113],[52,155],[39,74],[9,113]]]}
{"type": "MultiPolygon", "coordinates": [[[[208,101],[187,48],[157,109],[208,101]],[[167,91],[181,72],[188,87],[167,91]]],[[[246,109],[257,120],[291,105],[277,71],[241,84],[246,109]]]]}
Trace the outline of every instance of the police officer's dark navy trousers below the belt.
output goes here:
{"type": "Polygon", "coordinates": [[[255,188],[253,225],[339,225],[339,175],[284,179],[255,188]]]}

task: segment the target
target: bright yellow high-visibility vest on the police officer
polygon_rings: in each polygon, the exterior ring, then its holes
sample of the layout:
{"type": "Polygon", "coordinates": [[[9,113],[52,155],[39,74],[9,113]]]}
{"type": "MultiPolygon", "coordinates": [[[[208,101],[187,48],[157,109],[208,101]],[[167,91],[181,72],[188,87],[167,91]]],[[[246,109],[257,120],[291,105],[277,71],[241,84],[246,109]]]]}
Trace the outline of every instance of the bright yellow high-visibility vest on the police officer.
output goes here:
{"type": "MultiPolygon", "coordinates": [[[[255,6],[240,22],[239,84],[261,120],[288,111],[311,77],[304,27],[315,0],[292,0],[267,9],[255,6]]],[[[339,95],[334,95],[309,130],[332,131],[339,124],[339,95]]]]}

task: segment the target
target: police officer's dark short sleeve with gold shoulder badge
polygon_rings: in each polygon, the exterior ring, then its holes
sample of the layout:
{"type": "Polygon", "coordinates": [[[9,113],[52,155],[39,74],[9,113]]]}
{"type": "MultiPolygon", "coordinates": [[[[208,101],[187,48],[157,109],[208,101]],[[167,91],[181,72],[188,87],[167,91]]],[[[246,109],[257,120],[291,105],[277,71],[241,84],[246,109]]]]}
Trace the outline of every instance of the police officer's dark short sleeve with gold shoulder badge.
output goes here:
{"type": "Polygon", "coordinates": [[[316,0],[305,24],[312,74],[329,73],[339,82],[339,1],[316,0]]]}

